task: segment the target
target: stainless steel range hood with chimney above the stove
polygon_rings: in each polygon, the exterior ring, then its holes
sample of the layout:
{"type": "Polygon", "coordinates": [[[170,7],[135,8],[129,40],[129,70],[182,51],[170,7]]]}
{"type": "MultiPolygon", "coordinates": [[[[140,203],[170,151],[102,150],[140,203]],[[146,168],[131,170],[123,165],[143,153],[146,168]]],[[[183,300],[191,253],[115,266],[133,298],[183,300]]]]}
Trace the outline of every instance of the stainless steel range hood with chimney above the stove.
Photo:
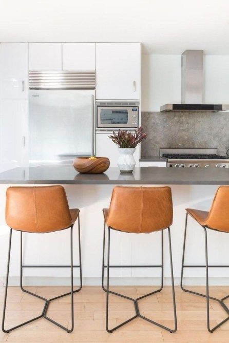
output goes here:
{"type": "Polygon", "coordinates": [[[229,105],[203,104],[203,50],[186,50],[181,55],[181,104],[165,104],[161,112],[229,110],[229,105]]]}

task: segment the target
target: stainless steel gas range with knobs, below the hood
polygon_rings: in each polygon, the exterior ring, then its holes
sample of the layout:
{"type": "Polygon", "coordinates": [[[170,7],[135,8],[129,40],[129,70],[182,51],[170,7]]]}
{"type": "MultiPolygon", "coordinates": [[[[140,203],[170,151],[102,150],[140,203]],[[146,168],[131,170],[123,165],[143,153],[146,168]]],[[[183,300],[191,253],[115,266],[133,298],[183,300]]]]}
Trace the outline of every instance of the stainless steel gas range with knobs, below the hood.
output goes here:
{"type": "Polygon", "coordinates": [[[217,148],[160,148],[160,156],[167,158],[167,167],[229,168],[229,156],[218,155],[217,148]]]}

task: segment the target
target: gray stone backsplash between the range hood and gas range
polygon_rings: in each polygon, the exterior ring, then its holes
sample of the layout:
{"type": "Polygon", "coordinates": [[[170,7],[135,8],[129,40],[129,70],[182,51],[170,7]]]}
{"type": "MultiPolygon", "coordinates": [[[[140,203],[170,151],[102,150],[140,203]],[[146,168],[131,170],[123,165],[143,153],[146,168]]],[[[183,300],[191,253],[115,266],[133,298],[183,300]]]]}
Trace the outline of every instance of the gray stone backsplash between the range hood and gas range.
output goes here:
{"type": "Polygon", "coordinates": [[[229,149],[229,112],[142,112],[141,121],[141,156],[158,156],[160,147],[229,149]]]}

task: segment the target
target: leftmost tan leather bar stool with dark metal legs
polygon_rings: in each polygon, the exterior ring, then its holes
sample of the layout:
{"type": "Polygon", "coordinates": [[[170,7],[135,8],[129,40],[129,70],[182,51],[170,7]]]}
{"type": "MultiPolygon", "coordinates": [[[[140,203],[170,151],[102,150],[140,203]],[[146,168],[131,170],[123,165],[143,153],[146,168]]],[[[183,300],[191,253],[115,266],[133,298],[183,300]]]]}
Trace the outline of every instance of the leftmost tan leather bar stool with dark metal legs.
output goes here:
{"type": "Polygon", "coordinates": [[[10,226],[9,253],[7,262],[6,290],[3,309],[3,332],[10,332],[20,328],[31,321],[44,317],[64,329],[72,332],[74,328],[73,317],[73,293],[79,292],[82,288],[82,268],[81,268],[81,246],[80,246],[80,210],[78,208],[69,209],[65,189],[62,186],[47,187],[9,187],[6,193],[6,222],[10,226]],[[72,257],[72,228],[78,219],[78,239],[79,239],[79,265],[73,265],[72,257]],[[23,265],[22,258],[22,238],[23,232],[44,234],[70,228],[70,265],[23,265]],[[11,329],[5,329],[5,312],[8,290],[10,250],[12,230],[21,231],[21,289],[30,295],[45,301],[45,306],[40,316],[32,318],[11,329]],[[29,292],[23,288],[22,276],[23,268],[70,268],[71,269],[71,291],[60,296],[46,299],[37,294],[29,292]],[[80,287],[73,291],[73,268],[80,268],[80,287]],[[52,300],[59,299],[66,295],[71,295],[71,329],[65,328],[56,321],[46,316],[48,306],[52,300]]]}

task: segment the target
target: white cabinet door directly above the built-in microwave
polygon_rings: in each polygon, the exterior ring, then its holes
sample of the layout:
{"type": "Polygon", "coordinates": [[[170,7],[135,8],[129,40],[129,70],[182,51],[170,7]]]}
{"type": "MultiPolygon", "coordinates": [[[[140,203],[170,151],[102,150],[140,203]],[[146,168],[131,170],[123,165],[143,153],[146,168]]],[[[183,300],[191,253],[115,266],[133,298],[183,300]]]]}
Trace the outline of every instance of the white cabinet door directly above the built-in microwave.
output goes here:
{"type": "Polygon", "coordinates": [[[97,99],[140,99],[141,44],[96,44],[97,99]]]}

